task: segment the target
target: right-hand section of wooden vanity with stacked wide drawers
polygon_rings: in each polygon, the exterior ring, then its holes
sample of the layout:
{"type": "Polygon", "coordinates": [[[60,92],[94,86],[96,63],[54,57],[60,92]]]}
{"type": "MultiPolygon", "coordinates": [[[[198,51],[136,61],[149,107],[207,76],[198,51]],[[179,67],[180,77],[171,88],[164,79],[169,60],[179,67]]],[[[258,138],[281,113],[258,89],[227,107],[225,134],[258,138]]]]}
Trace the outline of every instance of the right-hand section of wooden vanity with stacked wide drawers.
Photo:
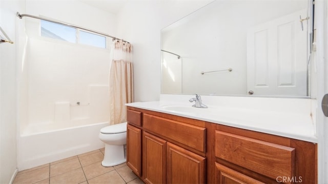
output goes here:
{"type": "Polygon", "coordinates": [[[316,145],[217,125],[216,183],[316,183],[316,145]]]}

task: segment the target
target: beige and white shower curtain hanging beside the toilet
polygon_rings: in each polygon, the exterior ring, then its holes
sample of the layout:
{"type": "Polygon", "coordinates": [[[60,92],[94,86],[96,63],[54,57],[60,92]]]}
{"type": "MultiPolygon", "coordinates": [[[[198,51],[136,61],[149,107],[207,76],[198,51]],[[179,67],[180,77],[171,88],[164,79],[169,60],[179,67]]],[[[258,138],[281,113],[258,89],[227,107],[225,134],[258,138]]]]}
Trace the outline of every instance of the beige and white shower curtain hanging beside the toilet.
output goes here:
{"type": "Polygon", "coordinates": [[[126,103],[133,102],[132,45],[114,40],[109,76],[110,125],[127,121],[126,103]]]}

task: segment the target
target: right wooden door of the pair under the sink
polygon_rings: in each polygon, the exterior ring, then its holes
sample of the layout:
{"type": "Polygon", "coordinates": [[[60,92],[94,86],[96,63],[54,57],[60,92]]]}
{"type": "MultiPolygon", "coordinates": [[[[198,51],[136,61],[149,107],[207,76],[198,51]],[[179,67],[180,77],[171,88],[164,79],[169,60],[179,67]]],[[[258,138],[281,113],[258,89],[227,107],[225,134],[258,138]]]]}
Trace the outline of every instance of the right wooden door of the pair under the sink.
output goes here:
{"type": "Polygon", "coordinates": [[[205,158],[168,142],[168,183],[204,183],[205,158]]]}

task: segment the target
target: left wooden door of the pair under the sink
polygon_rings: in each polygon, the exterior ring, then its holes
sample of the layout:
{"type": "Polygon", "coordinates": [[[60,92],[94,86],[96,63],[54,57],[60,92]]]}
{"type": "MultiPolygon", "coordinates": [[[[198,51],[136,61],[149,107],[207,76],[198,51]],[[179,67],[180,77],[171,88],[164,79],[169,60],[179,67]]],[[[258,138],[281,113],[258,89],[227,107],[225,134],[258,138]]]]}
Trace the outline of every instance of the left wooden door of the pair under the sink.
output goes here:
{"type": "Polygon", "coordinates": [[[167,141],[144,132],[143,172],[146,183],[166,183],[167,141]]]}

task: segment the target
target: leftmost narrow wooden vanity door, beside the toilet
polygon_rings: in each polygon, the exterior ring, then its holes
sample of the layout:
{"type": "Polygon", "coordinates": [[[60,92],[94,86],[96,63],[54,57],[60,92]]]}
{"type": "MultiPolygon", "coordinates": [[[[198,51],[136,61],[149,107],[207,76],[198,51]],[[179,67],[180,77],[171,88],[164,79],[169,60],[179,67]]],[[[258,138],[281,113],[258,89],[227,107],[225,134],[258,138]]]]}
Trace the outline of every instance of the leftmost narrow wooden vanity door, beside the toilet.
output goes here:
{"type": "Polygon", "coordinates": [[[127,125],[127,165],[141,176],[141,130],[127,125]]]}

